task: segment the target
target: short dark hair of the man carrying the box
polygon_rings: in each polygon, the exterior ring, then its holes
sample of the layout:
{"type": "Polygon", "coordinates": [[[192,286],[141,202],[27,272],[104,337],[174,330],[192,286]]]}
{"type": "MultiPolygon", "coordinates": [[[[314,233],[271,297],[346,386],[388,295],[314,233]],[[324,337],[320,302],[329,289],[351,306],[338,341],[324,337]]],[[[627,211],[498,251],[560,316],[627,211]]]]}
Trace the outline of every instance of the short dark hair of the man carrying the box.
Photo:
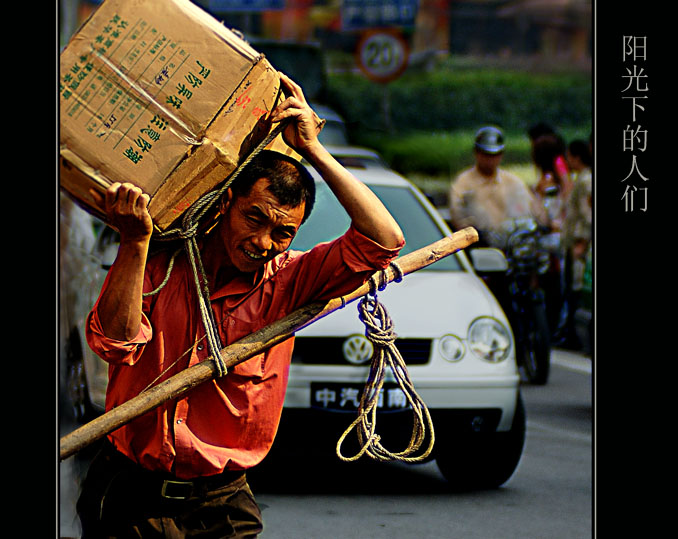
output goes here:
{"type": "Polygon", "coordinates": [[[273,150],[263,150],[250,161],[231,184],[233,195],[247,196],[252,185],[261,178],[270,182],[267,190],[284,206],[306,203],[302,223],[311,214],[315,203],[315,181],[311,173],[296,159],[273,150]]]}

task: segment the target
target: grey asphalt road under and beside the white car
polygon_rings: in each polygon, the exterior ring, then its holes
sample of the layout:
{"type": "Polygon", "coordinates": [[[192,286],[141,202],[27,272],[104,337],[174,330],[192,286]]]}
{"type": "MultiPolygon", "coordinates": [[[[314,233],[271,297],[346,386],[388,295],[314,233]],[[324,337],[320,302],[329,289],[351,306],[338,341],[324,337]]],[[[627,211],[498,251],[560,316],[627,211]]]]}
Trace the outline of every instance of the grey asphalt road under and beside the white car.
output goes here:
{"type": "MultiPolygon", "coordinates": [[[[590,359],[554,351],[549,383],[523,386],[526,447],[497,490],[450,492],[435,463],[300,458],[251,474],[262,539],[592,537],[592,384],[590,359]]],[[[79,537],[74,505],[87,465],[86,455],[59,464],[60,537],[79,537]]]]}

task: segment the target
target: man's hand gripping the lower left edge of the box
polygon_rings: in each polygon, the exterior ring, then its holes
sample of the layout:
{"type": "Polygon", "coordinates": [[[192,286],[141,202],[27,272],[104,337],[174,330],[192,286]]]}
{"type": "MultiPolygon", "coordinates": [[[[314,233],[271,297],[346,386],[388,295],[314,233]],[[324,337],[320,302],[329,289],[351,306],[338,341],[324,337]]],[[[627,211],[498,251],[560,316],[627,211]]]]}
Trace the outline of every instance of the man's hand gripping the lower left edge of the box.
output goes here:
{"type": "Polygon", "coordinates": [[[148,212],[150,197],[131,183],[114,183],[105,197],[90,191],[105,208],[110,226],[120,233],[120,241],[147,241],[153,233],[153,220],[148,212]]]}

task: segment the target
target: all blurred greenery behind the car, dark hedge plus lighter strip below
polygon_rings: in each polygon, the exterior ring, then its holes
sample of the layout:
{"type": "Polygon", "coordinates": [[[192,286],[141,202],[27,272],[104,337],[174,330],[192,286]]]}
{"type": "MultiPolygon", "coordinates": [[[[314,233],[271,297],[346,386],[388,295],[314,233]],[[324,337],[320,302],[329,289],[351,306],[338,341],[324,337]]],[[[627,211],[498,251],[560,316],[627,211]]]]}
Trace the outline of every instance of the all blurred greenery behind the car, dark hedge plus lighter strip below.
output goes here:
{"type": "Polygon", "coordinates": [[[587,139],[592,126],[591,78],[577,73],[439,69],[386,86],[334,74],[327,101],[346,119],[354,144],[375,148],[403,174],[449,176],[470,165],[481,125],[504,129],[505,163],[530,161],[527,129],[539,121],[566,141],[587,139]]]}

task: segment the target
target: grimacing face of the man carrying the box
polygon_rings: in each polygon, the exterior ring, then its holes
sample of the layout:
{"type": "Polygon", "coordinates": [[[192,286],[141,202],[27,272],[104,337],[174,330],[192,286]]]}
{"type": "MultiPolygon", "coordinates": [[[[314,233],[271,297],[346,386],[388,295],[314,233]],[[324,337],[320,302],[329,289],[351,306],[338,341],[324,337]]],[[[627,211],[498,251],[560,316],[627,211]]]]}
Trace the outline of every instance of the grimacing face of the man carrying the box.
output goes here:
{"type": "Polygon", "coordinates": [[[290,246],[304,217],[305,203],[282,206],[266,190],[269,181],[257,180],[249,194],[233,197],[230,189],[222,203],[219,233],[226,256],[238,270],[259,269],[290,246]]]}

